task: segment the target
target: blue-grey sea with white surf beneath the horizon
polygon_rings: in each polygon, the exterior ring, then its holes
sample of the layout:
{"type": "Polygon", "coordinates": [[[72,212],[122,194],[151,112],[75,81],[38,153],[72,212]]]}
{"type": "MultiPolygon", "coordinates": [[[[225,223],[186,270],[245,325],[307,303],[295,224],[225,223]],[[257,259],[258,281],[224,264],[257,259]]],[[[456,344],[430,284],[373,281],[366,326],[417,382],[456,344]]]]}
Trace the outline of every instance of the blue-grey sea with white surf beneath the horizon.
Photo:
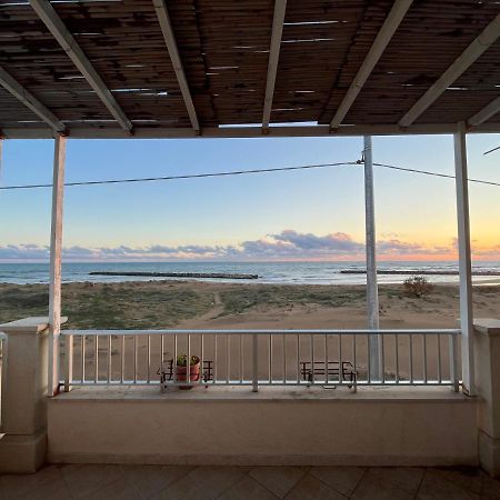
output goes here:
{"type": "MultiPolygon", "coordinates": [[[[194,281],[273,283],[273,284],[364,284],[366,274],[344,274],[342,270],[364,270],[364,262],[64,262],[62,264],[63,282],[123,282],[150,280],[178,280],[178,278],[151,277],[117,277],[91,276],[96,271],[114,272],[197,272],[197,273],[243,273],[258,274],[257,280],[231,279],[193,279],[194,281]]],[[[434,283],[456,283],[458,276],[440,276],[439,272],[458,271],[457,262],[390,262],[380,261],[379,270],[414,271],[416,274],[426,271],[434,283]]],[[[472,266],[478,271],[500,272],[500,261],[476,262],[472,266]]],[[[401,283],[408,274],[379,276],[380,283],[401,283]]],[[[477,284],[500,284],[500,277],[473,277],[477,284]]],[[[186,281],[186,279],[182,279],[186,281]]],[[[0,283],[48,283],[48,263],[0,263],[0,283]]]]}

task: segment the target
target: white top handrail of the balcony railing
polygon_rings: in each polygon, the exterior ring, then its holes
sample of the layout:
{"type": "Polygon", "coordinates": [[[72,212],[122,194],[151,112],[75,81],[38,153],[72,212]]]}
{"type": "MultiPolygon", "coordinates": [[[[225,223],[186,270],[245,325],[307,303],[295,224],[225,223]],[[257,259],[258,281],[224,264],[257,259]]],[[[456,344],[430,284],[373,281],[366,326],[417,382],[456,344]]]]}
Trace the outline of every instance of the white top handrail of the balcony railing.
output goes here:
{"type": "Polygon", "coordinates": [[[411,336],[411,334],[451,334],[460,336],[460,329],[447,329],[447,328],[434,328],[434,329],[378,329],[378,330],[237,330],[237,329],[220,329],[220,330],[198,330],[198,329],[164,329],[164,330],[61,330],[61,336],[177,336],[177,334],[247,334],[247,336],[269,336],[269,334],[332,334],[332,336],[367,336],[367,334],[378,334],[378,336],[411,336]]]}

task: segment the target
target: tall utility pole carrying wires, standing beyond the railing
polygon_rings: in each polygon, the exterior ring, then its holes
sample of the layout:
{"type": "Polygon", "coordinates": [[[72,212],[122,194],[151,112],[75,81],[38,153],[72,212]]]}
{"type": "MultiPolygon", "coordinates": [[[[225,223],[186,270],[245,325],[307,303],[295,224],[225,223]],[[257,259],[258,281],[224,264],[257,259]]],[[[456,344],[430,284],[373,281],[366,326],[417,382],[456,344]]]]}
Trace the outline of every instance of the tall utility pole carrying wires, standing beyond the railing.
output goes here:
{"type": "MultiPolygon", "coordinates": [[[[367,248],[367,306],[368,328],[379,329],[379,289],[377,283],[377,240],[374,223],[373,199],[373,157],[371,149],[371,136],[364,136],[364,226],[367,248]]],[[[381,336],[370,336],[370,378],[379,380],[381,376],[381,336]]]]}

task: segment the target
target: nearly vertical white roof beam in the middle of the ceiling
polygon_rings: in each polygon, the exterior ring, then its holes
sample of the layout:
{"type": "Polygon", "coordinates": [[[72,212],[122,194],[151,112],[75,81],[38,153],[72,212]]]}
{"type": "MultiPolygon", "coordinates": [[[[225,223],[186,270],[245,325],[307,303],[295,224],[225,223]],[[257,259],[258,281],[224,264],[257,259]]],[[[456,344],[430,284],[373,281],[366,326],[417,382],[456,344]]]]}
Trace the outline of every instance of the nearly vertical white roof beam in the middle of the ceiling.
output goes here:
{"type": "Polygon", "coordinates": [[[274,1],[274,14],[272,18],[271,46],[269,49],[268,77],[266,82],[266,97],[262,113],[262,128],[269,128],[271,119],[272,99],[274,97],[276,76],[280,58],[281,36],[283,32],[287,0],[274,1]]]}

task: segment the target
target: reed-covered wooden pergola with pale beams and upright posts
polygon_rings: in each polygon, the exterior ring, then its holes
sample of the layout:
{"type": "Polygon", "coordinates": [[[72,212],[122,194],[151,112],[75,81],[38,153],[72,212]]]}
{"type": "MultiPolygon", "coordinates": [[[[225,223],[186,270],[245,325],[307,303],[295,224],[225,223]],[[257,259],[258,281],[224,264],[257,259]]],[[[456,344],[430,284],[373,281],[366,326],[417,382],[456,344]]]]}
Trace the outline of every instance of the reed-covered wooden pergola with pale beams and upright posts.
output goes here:
{"type": "Polygon", "coordinates": [[[472,392],[466,133],[500,132],[499,38],[500,3],[488,0],[0,1],[0,138],[56,139],[50,386],[66,138],[364,136],[376,329],[370,136],[453,133],[472,392]]]}

